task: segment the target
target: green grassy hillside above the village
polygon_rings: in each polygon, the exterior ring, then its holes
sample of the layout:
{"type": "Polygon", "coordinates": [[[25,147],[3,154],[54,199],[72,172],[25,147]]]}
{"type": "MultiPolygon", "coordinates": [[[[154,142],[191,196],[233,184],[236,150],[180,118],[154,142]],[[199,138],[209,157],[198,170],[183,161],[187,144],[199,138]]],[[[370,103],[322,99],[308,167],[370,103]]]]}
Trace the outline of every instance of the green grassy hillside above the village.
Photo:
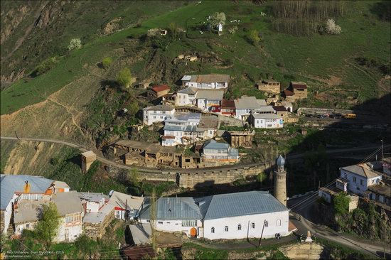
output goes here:
{"type": "MultiPolygon", "coordinates": [[[[139,38],[149,28],[168,28],[171,22],[186,29],[186,36],[169,43],[165,51],[158,54],[166,67],[186,72],[225,72],[233,77],[230,95],[254,94],[252,85],[261,77],[273,75],[286,86],[289,80],[305,80],[310,85],[310,97],[318,91],[316,98],[304,104],[317,106],[349,107],[347,97],[358,97],[358,102],[380,97],[387,90],[388,82],[381,82],[384,75],[377,67],[359,65],[355,58],[373,59],[380,65],[390,65],[390,23],[380,20],[373,13],[376,1],[355,1],[346,3],[346,14],[336,18],[342,33],[338,36],[320,35],[292,36],[277,33],[272,26],[274,18],[273,2],[258,6],[251,2],[235,4],[227,1],[205,1],[202,4],[188,4],[175,11],[156,15],[139,26],[126,28],[109,36],[92,39],[83,48],[69,56],[60,58],[49,72],[34,78],[19,80],[1,92],[1,114],[14,112],[28,104],[40,102],[49,94],[60,90],[82,77],[89,75],[86,69],[96,65],[106,55],[127,44],[129,38],[139,38]],[[223,36],[213,33],[199,33],[205,16],[214,11],[223,11],[227,16],[227,26],[223,36]],[[260,16],[264,11],[266,16],[260,16]],[[240,19],[235,35],[227,32],[233,26],[230,21],[240,19]],[[247,40],[248,32],[256,29],[261,33],[260,45],[254,46],[247,40]],[[181,68],[171,64],[172,58],[183,52],[214,53],[222,64],[213,62],[181,68]],[[379,86],[380,85],[380,86],[379,86]]],[[[139,50],[151,47],[139,45],[139,50]]],[[[153,48],[152,48],[153,49],[153,48]]],[[[133,50],[134,51],[134,50],[133,50]]],[[[114,54],[115,55],[115,54],[114,54]]],[[[126,53],[127,57],[137,55],[126,53]]],[[[145,58],[148,58],[146,53],[145,58]]],[[[122,54],[117,55],[121,58],[122,54]]],[[[154,73],[146,70],[147,60],[132,64],[132,72],[137,77],[154,73]]],[[[114,77],[114,76],[113,76],[114,77]]],[[[173,84],[178,78],[161,75],[161,80],[173,84]]]]}

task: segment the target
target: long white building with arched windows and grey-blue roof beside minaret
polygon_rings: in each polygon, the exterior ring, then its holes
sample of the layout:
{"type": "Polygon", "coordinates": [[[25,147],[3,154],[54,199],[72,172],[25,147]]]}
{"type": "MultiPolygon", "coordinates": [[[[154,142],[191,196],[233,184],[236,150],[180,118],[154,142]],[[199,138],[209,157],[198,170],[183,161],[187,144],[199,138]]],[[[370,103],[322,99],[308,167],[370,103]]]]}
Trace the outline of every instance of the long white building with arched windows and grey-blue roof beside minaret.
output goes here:
{"type": "Polygon", "coordinates": [[[271,238],[289,234],[289,210],[264,191],[196,199],[203,214],[205,239],[271,238]]]}

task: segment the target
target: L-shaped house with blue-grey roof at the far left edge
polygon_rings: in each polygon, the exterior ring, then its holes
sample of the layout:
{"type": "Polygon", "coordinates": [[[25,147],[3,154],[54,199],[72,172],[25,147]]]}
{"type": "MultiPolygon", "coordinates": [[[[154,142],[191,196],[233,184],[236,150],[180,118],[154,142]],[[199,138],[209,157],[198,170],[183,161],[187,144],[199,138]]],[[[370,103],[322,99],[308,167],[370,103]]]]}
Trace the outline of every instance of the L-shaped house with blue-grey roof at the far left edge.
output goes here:
{"type": "Polygon", "coordinates": [[[48,201],[55,193],[68,193],[70,187],[61,181],[31,175],[1,174],[1,234],[14,233],[11,216],[22,201],[48,201]]]}

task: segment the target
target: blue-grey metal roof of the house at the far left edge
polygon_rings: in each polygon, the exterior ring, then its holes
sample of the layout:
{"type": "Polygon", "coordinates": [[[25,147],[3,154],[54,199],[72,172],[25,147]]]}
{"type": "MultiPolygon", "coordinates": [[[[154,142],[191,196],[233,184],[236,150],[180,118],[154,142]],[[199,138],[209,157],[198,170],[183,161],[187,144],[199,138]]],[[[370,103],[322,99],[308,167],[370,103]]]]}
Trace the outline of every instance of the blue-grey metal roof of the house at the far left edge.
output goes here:
{"type": "Polygon", "coordinates": [[[47,178],[32,176],[32,175],[1,175],[1,210],[5,210],[12,196],[16,192],[23,193],[26,185],[25,181],[28,181],[30,185],[30,193],[45,193],[54,180],[47,178]]]}

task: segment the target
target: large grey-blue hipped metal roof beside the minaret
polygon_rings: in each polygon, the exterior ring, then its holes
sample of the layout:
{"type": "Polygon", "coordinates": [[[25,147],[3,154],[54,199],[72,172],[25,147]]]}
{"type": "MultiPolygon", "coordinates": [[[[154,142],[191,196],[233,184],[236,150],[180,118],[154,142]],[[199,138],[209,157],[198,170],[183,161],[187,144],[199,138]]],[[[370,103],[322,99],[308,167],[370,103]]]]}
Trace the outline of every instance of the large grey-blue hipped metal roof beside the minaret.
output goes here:
{"type": "Polygon", "coordinates": [[[204,220],[288,210],[270,193],[257,190],[200,197],[195,201],[200,205],[204,220]]]}

